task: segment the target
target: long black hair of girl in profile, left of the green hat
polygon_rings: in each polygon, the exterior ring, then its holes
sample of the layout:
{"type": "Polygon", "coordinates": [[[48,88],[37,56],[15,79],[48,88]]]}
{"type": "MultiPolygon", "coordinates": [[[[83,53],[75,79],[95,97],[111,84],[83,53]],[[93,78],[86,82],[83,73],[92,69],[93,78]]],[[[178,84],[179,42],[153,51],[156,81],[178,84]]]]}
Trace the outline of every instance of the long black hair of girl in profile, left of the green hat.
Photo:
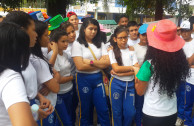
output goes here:
{"type": "MultiPolygon", "coordinates": [[[[34,47],[30,48],[30,51],[33,55],[44,60],[46,63],[48,63],[48,61],[42,53],[40,41],[41,41],[43,34],[45,33],[47,29],[48,29],[48,25],[45,22],[35,21],[35,30],[36,30],[38,37],[37,37],[36,44],[34,45],[34,47]]],[[[51,65],[49,63],[48,65],[49,65],[50,72],[53,73],[51,65]]]]}

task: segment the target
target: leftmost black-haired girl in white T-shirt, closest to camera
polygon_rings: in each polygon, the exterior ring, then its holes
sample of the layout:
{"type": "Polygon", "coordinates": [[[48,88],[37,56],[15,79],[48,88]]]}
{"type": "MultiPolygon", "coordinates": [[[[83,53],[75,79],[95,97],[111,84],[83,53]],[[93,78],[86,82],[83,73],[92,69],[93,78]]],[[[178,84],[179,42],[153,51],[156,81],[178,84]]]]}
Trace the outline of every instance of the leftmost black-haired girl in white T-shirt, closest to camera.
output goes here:
{"type": "Polygon", "coordinates": [[[0,125],[36,126],[21,75],[28,66],[29,36],[18,25],[0,24],[0,125]],[[24,120],[25,118],[25,120],[24,120]]]}

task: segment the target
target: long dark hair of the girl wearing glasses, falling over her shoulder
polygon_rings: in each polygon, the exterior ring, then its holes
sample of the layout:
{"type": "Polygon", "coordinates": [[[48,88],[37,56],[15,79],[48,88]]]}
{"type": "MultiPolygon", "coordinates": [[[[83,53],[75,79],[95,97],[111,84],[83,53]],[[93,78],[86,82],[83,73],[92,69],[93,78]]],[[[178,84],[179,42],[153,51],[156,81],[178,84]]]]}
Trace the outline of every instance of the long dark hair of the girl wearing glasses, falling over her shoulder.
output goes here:
{"type": "Polygon", "coordinates": [[[117,35],[121,32],[126,32],[128,34],[128,29],[127,27],[125,26],[118,26],[114,33],[112,34],[111,38],[110,38],[110,44],[113,46],[113,52],[115,54],[115,59],[118,63],[119,66],[122,66],[123,65],[123,61],[122,61],[122,58],[121,58],[121,50],[119,49],[118,45],[117,45],[117,42],[114,41],[114,37],[116,38],[117,35]]]}

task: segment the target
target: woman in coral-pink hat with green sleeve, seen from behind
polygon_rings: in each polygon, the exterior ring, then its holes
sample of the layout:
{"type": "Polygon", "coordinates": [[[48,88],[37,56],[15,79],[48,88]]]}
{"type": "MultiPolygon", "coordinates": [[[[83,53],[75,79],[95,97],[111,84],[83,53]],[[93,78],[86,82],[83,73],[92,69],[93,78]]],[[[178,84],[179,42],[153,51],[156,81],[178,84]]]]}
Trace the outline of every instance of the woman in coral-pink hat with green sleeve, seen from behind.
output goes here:
{"type": "Polygon", "coordinates": [[[189,66],[182,50],[185,42],[176,35],[177,27],[170,20],[148,26],[148,49],[139,72],[137,94],[144,95],[143,126],[174,126],[177,118],[176,90],[189,75],[189,66]],[[168,34],[166,34],[168,33],[168,34]]]}

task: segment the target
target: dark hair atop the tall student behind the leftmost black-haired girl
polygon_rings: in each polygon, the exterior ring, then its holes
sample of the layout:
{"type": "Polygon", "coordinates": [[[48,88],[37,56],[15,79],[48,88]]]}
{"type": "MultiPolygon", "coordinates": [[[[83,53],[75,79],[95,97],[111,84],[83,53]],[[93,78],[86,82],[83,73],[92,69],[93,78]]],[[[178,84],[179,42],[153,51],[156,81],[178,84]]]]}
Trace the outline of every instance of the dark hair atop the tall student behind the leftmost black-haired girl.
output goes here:
{"type": "Polygon", "coordinates": [[[31,21],[33,21],[32,17],[23,11],[12,11],[3,19],[3,22],[13,22],[24,29],[28,29],[31,21]]]}

